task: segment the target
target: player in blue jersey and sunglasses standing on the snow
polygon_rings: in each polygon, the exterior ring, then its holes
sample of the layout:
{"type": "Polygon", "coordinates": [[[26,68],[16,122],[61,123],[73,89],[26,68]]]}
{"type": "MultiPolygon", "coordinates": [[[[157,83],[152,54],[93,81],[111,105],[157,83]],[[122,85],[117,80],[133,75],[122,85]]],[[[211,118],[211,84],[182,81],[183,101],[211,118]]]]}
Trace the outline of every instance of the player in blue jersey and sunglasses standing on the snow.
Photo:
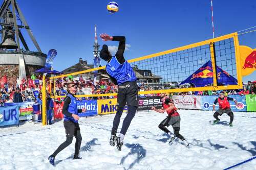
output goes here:
{"type": "Polygon", "coordinates": [[[76,143],[75,143],[75,154],[74,154],[74,159],[81,159],[79,155],[79,150],[81,146],[81,141],[82,141],[82,136],[80,133],[80,127],[78,124],[78,113],[80,112],[86,112],[86,108],[82,109],[77,109],[77,103],[76,103],[76,97],[74,96],[76,94],[77,88],[75,84],[70,83],[68,84],[68,95],[64,99],[64,104],[63,104],[63,109],[62,113],[64,115],[64,127],[66,130],[66,141],[61,143],[57,150],[49,156],[49,161],[52,165],[54,165],[54,159],[55,156],[68,147],[72,143],[73,136],[76,138],[76,143]]]}

